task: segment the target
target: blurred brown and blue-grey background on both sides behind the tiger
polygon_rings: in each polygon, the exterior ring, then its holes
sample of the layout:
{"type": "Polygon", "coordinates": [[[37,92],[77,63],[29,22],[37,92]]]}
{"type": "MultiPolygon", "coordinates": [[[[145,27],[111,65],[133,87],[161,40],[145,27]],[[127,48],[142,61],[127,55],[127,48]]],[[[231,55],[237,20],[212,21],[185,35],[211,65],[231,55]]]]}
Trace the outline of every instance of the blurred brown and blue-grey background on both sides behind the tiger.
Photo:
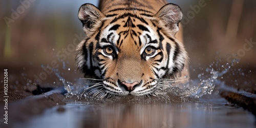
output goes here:
{"type": "MultiPolygon", "coordinates": [[[[210,65],[222,70],[221,66],[238,58],[239,63],[221,79],[229,86],[256,87],[256,1],[168,2],[183,11],[192,79],[210,65]]],[[[56,73],[69,81],[82,77],[74,66],[74,48],[85,36],[77,18],[84,3],[98,5],[87,0],[0,2],[0,76],[7,68],[10,90],[30,90],[34,83],[61,86],[56,73]]]]}

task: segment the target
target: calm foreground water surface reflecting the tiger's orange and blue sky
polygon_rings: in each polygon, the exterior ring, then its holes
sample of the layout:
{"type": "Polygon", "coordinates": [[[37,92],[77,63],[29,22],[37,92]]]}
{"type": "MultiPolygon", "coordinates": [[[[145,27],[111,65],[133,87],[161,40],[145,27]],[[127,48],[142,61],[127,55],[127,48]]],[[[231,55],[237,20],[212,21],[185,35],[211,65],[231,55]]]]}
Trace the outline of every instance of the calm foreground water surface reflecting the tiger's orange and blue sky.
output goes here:
{"type": "Polygon", "coordinates": [[[59,106],[23,127],[253,127],[254,117],[243,109],[210,103],[76,103],[59,106]]]}

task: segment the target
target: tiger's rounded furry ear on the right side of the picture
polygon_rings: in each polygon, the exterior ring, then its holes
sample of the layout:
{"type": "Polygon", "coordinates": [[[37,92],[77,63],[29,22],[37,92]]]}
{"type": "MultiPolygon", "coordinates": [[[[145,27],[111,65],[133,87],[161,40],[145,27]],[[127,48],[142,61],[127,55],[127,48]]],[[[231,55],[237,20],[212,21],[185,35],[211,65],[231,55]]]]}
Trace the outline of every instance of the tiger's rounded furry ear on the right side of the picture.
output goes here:
{"type": "Polygon", "coordinates": [[[163,6],[156,14],[163,24],[172,31],[172,34],[175,35],[179,31],[179,22],[182,19],[182,11],[178,5],[175,4],[166,4],[163,6]]]}

